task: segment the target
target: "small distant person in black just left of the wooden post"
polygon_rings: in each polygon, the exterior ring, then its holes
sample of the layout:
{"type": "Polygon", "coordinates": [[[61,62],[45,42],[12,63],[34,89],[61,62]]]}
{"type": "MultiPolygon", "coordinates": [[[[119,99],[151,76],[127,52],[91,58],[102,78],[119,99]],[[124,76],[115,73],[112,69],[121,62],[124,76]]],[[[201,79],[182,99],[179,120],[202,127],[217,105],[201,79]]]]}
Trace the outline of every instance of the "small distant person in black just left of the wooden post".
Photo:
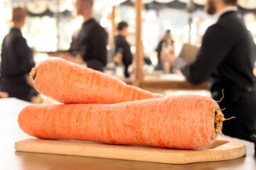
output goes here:
{"type": "Polygon", "coordinates": [[[129,77],[128,67],[132,64],[132,52],[126,38],[128,33],[128,24],[120,22],[117,26],[118,34],[114,37],[115,57],[114,62],[124,64],[124,77],[129,77]],[[122,60],[121,60],[122,59],[122,60]]]}

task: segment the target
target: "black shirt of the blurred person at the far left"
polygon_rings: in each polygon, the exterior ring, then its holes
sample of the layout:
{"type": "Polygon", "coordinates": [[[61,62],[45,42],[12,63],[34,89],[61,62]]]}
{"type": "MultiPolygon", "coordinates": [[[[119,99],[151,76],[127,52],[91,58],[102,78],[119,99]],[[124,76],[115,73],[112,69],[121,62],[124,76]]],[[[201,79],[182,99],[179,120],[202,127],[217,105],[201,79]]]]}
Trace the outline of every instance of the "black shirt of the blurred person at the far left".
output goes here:
{"type": "Polygon", "coordinates": [[[1,52],[1,77],[19,77],[34,67],[33,52],[23,38],[21,30],[11,28],[4,38],[1,52]]]}

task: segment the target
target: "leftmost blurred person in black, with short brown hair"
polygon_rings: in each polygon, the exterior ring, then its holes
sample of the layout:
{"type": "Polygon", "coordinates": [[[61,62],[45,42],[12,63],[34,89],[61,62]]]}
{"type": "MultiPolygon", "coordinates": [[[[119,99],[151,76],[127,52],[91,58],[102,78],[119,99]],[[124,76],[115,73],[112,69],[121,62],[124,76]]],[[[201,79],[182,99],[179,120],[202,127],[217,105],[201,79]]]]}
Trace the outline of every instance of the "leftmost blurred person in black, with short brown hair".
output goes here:
{"type": "Polygon", "coordinates": [[[12,11],[13,26],[2,43],[1,51],[1,91],[24,101],[31,101],[37,92],[29,72],[34,67],[33,52],[21,34],[26,22],[26,11],[14,8],[12,11]]]}

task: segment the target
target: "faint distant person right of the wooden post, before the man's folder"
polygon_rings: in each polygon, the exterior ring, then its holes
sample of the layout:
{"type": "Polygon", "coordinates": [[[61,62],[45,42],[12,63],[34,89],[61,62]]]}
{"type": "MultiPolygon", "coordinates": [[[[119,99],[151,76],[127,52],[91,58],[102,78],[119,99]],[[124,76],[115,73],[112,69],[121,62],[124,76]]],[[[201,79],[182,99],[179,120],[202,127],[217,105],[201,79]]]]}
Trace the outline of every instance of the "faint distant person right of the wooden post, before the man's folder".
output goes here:
{"type": "MultiPolygon", "coordinates": [[[[156,47],[158,62],[156,64],[156,67],[154,70],[163,70],[164,69],[163,63],[161,61],[161,51],[168,47],[168,43],[171,44],[172,46],[174,45],[174,40],[172,40],[172,38],[171,38],[171,30],[165,31],[163,38],[160,40],[159,44],[156,47]]],[[[174,49],[172,49],[172,50],[174,50],[174,49]]]]}

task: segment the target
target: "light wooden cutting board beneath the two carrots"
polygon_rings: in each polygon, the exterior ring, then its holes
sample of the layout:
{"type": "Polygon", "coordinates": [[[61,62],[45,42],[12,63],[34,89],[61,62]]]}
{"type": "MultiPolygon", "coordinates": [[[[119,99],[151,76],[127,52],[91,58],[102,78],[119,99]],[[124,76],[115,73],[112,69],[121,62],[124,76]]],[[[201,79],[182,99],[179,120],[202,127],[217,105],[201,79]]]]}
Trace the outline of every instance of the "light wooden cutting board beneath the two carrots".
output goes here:
{"type": "Polygon", "coordinates": [[[208,149],[163,149],[156,147],[107,145],[95,142],[28,139],[15,143],[16,151],[126,159],[166,164],[188,164],[235,159],[246,154],[240,140],[218,137],[208,149]]]}

